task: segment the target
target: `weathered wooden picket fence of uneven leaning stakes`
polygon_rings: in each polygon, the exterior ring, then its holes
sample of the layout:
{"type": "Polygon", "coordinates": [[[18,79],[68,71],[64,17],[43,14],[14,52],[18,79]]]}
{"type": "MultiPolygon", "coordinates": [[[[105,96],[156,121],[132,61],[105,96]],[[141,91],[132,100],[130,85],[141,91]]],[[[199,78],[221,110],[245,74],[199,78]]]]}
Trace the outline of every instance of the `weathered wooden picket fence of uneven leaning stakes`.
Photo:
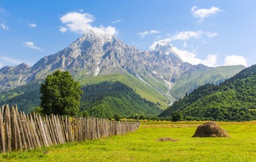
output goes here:
{"type": "Polygon", "coordinates": [[[139,126],[139,122],[122,123],[97,117],[45,115],[43,119],[35,113],[18,113],[17,106],[11,106],[10,111],[5,105],[0,109],[1,153],[122,135],[139,126]]]}

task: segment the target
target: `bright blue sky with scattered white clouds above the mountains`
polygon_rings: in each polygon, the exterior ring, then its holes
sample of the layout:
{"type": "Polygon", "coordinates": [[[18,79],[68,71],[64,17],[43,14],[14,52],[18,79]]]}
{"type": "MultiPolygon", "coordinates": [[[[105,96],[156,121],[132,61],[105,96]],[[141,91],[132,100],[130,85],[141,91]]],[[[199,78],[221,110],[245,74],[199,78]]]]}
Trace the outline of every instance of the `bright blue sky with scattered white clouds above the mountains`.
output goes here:
{"type": "Polygon", "coordinates": [[[255,0],[0,1],[0,68],[34,65],[84,32],[116,34],[154,50],[168,42],[183,61],[211,67],[256,63],[255,0]]]}

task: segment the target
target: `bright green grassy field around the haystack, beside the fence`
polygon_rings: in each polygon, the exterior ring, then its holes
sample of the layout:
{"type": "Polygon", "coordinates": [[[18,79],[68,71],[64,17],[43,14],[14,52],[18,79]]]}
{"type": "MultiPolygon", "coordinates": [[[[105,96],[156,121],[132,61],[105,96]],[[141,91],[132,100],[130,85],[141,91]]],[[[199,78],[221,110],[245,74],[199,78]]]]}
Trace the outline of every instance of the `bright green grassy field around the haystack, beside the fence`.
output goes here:
{"type": "Polygon", "coordinates": [[[217,122],[232,138],[192,138],[203,123],[147,121],[124,136],[9,153],[0,161],[256,161],[256,121],[217,122]],[[162,137],[180,141],[156,141],[162,137]]]}

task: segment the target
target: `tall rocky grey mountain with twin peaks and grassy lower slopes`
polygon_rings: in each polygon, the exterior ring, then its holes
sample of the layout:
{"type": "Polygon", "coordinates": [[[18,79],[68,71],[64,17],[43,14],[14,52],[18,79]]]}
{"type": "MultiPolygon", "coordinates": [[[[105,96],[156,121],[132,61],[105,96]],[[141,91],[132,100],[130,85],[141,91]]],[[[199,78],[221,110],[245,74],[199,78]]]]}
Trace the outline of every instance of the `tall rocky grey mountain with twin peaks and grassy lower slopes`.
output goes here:
{"type": "Polygon", "coordinates": [[[87,84],[86,80],[93,80],[91,84],[98,82],[97,79],[101,82],[120,80],[134,88],[141,97],[159,102],[161,108],[165,109],[175,99],[184,96],[186,91],[211,80],[220,82],[230,78],[243,68],[223,67],[227,70],[219,74],[217,68],[182,61],[170,43],[158,43],[154,51],[140,51],[125,45],[114,35],[105,36],[90,31],[69,47],[43,57],[32,67],[22,63],[16,67],[2,68],[0,101],[24,94],[15,90],[19,86],[30,87],[30,83],[42,82],[55,70],[68,70],[82,85],[87,84]],[[113,80],[112,76],[115,76],[113,80]]]}

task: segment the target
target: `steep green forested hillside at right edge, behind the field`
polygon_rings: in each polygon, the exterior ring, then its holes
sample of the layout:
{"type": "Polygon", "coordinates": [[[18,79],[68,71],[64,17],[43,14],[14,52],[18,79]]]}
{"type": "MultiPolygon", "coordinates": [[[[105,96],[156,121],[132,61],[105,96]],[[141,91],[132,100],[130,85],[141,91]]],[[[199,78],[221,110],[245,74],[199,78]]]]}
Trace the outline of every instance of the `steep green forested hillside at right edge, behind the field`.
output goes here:
{"type": "Polygon", "coordinates": [[[219,85],[199,86],[159,116],[168,117],[176,111],[181,111],[187,119],[256,119],[256,65],[242,70],[219,85]]]}

